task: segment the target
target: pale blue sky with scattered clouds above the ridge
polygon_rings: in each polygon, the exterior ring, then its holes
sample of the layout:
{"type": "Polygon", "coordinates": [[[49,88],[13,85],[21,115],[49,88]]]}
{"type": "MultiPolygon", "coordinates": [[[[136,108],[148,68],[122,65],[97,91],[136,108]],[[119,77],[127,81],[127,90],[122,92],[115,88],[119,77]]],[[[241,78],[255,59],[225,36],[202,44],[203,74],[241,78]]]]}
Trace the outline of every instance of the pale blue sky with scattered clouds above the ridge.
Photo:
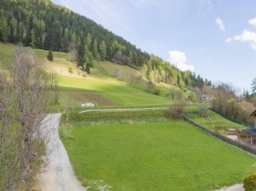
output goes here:
{"type": "Polygon", "coordinates": [[[250,88],[255,0],[52,0],[181,69],[250,88]]]}

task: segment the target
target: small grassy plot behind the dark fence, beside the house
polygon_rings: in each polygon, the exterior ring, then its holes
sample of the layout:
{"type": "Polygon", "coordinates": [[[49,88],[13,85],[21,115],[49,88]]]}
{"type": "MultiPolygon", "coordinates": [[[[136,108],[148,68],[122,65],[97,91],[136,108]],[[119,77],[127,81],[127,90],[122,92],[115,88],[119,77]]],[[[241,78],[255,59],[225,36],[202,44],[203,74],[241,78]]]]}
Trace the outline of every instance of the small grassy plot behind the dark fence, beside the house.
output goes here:
{"type": "Polygon", "coordinates": [[[235,122],[231,122],[230,120],[223,118],[221,115],[218,115],[211,110],[208,111],[208,115],[210,116],[211,121],[207,120],[204,117],[201,117],[201,115],[198,115],[198,114],[187,115],[187,117],[190,120],[206,127],[207,129],[212,131],[218,131],[223,135],[225,135],[225,132],[227,131],[227,127],[246,128],[243,125],[237,124],[235,122]]]}

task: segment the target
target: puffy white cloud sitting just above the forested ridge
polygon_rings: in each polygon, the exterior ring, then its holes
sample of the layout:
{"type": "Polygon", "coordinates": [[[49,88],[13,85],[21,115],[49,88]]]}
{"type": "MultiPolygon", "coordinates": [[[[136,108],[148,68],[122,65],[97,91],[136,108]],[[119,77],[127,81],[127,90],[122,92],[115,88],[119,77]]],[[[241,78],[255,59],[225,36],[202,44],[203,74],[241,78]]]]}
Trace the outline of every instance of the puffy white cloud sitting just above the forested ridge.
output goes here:
{"type": "Polygon", "coordinates": [[[185,62],[187,62],[186,53],[174,50],[174,51],[169,51],[169,56],[170,56],[170,62],[172,62],[173,64],[177,64],[177,67],[182,71],[185,71],[185,70],[190,70],[192,72],[194,71],[193,65],[185,64],[185,62]]]}

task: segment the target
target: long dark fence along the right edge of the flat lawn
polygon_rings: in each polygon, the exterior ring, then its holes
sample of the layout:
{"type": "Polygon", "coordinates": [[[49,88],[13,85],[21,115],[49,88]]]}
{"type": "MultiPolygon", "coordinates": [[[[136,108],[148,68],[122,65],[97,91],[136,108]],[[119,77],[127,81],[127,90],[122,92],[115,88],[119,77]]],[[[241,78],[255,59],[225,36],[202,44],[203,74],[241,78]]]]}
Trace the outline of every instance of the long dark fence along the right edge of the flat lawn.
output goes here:
{"type": "Polygon", "coordinates": [[[222,141],[224,141],[224,142],[226,142],[226,143],[228,143],[228,144],[230,144],[230,145],[236,146],[236,147],[238,147],[238,148],[240,148],[240,149],[243,149],[243,150],[245,150],[245,151],[247,151],[247,152],[249,152],[249,153],[253,153],[253,154],[256,155],[256,149],[254,149],[254,148],[252,148],[252,147],[249,147],[249,146],[247,146],[247,145],[241,144],[241,143],[239,143],[239,142],[237,142],[237,141],[234,141],[234,140],[232,140],[232,139],[230,139],[230,138],[226,138],[226,137],[224,137],[223,135],[220,135],[220,134],[215,133],[215,132],[213,132],[213,131],[211,131],[211,130],[208,130],[208,129],[206,129],[205,127],[199,125],[198,123],[191,121],[191,120],[188,119],[185,115],[183,115],[183,119],[184,119],[186,122],[191,123],[192,125],[194,125],[194,126],[200,128],[201,130],[205,131],[206,133],[208,133],[208,134],[210,134],[210,135],[212,135],[212,136],[214,136],[214,137],[216,137],[216,138],[219,138],[220,140],[222,140],[222,141]]]}

